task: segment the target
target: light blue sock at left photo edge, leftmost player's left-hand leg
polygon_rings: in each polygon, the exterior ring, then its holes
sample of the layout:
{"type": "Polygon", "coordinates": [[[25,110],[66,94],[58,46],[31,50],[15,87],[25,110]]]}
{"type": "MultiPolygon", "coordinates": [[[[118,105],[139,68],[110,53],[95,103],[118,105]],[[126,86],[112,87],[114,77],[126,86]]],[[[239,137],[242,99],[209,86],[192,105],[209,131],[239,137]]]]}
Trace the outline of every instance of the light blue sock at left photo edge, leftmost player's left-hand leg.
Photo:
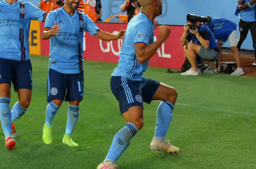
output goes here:
{"type": "Polygon", "coordinates": [[[10,98],[0,97],[0,120],[5,138],[12,136],[12,114],[10,100],[10,98]]]}

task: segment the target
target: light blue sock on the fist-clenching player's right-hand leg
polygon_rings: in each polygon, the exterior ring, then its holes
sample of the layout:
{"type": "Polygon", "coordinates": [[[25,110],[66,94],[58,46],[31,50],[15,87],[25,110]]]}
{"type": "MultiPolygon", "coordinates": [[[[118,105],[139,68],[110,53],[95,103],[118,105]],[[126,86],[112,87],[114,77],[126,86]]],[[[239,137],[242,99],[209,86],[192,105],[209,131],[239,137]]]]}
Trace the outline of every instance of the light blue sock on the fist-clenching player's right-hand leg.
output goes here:
{"type": "Polygon", "coordinates": [[[154,139],[159,142],[165,141],[166,132],[172,121],[173,108],[174,105],[168,101],[162,101],[157,108],[156,131],[154,139]]]}

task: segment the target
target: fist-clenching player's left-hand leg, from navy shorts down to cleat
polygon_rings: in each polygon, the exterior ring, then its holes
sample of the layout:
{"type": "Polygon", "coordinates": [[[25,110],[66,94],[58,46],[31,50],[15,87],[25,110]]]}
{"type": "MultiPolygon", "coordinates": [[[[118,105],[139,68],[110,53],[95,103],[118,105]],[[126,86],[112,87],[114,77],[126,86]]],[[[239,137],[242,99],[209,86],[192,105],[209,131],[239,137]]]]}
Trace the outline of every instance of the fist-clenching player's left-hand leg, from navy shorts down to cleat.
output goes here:
{"type": "Polygon", "coordinates": [[[108,155],[97,168],[117,168],[116,160],[130,144],[131,139],[143,127],[143,99],[140,82],[123,77],[111,78],[111,90],[119,101],[120,112],[127,124],[113,138],[108,155]]]}

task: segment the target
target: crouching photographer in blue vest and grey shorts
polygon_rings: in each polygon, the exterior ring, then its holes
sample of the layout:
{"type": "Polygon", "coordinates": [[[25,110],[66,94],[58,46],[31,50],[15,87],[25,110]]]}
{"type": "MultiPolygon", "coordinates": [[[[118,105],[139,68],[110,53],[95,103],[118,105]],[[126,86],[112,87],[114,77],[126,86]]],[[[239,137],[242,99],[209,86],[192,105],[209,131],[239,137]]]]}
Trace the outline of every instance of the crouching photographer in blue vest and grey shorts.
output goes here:
{"type": "Polygon", "coordinates": [[[186,46],[184,47],[185,57],[191,63],[191,69],[181,73],[181,75],[200,75],[196,64],[197,56],[212,60],[216,59],[220,54],[211,30],[208,27],[202,26],[202,22],[188,21],[184,26],[184,32],[180,41],[183,47],[186,46]]]}

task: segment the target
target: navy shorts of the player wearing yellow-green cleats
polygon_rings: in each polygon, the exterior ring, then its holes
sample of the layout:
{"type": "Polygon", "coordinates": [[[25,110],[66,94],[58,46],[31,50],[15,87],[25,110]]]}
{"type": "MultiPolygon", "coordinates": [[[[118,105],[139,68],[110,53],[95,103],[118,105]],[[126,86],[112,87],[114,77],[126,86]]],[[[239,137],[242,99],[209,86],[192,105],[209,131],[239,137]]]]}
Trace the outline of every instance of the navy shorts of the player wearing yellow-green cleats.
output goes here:
{"type": "Polygon", "coordinates": [[[84,73],[64,74],[49,69],[47,80],[47,101],[61,99],[81,101],[84,95],[84,73]]]}

